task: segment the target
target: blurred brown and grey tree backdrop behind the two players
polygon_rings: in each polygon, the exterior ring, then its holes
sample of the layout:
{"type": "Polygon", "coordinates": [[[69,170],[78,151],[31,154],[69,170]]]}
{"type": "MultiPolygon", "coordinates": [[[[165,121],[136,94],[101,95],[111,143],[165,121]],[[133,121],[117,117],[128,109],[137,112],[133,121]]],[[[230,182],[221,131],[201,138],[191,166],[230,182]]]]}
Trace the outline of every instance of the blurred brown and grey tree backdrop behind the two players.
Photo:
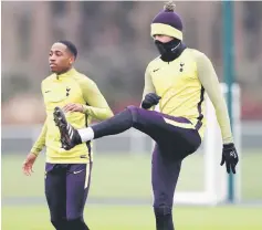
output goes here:
{"type": "MultiPolygon", "coordinates": [[[[144,72],[158,55],[150,22],[163,2],[2,2],[2,123],[44,119],[41,81],[53,42],[73,41],[76,69],[115,112],[139,105],[144,72]],[[17,117],[19,114],[19,117],[17,117]]],[[[211,58],[222,80],[220,2],[178,2],[185,41],[211,58]],[[195,6],[192,6],[195,4],[195,6]]],[[[235,2],[235,71],[244,119],[262,119],[262,3],[235,2]]]]}

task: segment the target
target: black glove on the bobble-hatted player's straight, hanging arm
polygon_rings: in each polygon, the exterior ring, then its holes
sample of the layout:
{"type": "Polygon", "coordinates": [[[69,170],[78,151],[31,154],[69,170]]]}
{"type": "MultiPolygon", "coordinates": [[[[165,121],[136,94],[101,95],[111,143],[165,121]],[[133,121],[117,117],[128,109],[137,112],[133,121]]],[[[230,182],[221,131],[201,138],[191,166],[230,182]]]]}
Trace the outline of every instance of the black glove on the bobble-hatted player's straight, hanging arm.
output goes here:
{"type": "Polygon", "coordinates": [[[239,156],[233,143],[224,144],[222,150],[222,159],[220,165],[226,163],[227,171],[235,174],[235,166],[238,165],[239,156]]]}

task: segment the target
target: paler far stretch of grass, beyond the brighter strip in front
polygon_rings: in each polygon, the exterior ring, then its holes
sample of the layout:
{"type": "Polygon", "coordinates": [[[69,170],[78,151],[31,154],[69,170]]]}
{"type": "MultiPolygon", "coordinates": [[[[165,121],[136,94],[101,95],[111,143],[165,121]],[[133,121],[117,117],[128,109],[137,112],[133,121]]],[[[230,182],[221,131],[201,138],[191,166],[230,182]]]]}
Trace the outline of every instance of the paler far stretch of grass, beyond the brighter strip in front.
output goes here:
{"type": "MultiPolygon", "coordinates": [[[[22,174],[24,155],[2,155],[2,197],[43,197],[44,156],[39,156],[34,174],[22,174]],[[21,186],[22,185],[22,186],[21,186]]],[[[220,159],[218,159],[218,164],[220,159]]],[[[244,199],[262,200],[262,154],[243,153],[241,187],[244,199]]],[[[94,155],[90,197],[151,199],[150,155],[94,155]]],[[[226,170],[226,169],[224,169],[226,170]]],[[[177,190],[203,189],[203,159],[192,155],[182,165],[177,190]]]]}

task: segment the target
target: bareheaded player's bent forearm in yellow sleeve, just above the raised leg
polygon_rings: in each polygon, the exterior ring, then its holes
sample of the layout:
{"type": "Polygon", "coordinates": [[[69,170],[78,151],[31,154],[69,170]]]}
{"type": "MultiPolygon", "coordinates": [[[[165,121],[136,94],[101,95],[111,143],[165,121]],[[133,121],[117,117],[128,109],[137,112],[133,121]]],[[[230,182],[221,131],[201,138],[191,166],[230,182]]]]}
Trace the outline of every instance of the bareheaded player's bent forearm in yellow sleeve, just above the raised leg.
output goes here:
{"type": "Polygon", "coordinates": [[[87,114],[98,121],[107,119],[107,118],[114,116],[114,114],[109,107],[99,108],[99,107],[83,105],[83,108],[84,108],[83,112],[85,114],[87,114]]]}

